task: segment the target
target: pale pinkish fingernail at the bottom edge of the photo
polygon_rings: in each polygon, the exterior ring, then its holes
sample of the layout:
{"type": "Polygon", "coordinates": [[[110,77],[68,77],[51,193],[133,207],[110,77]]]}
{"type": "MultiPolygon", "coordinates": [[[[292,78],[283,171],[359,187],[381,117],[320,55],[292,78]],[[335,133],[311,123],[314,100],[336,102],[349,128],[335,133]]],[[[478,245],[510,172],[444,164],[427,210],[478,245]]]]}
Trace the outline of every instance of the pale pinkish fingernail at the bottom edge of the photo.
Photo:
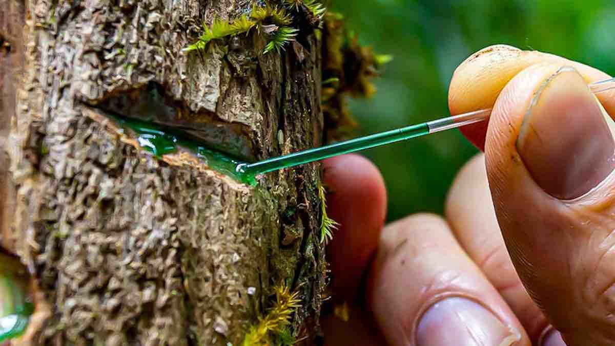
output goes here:
{"type": "Polygon", "coordinates": [[[418,346],[498,345],[510,346],[521,339],[490,311],[469,299],[452,297],[432,305],[419,321],[418,346]]]}

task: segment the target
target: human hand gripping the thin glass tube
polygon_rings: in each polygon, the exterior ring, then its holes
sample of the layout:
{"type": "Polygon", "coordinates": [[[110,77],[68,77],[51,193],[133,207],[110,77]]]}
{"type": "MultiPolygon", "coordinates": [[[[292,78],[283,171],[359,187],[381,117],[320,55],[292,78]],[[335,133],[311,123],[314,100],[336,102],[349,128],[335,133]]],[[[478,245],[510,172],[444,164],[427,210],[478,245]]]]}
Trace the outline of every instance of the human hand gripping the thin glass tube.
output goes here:
{"type": "Polygon", "coordinates": [[[349,319],[325,314],[325,345],[615,344],[615,91],[600,106],[586,87],[607,77],[506,46],[464,61],[451,114],[494,109],[488,126],[463,130],[485,155],[459,173],[446,219],[383,229],[378,170],[356,155],[327,160],[341,223],[331,300],[349,319]]]}

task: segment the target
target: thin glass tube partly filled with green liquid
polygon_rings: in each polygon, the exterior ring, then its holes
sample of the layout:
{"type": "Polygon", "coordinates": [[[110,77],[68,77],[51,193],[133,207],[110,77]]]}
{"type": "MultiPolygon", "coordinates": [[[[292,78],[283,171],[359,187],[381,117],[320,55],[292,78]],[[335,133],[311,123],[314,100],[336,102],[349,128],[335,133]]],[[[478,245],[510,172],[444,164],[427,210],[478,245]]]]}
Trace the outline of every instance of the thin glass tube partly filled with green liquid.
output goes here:
{"type": "MultiPolygon", "coordinates": [[[[589,88],[595,94],[615,89],[615,78],[589,84],[589,88]]],[[[288,155],[273,157],[272,159],[266,159],[256,163],[240,163],[237,165],[236,170],[237,173],[242,176],[242,180],[253,181],[254,176],[256,175],[280,170],[282,168],[295,167],[298,165],[303,165],[304,163],[323,160],[336,155],[348,154],[350,152],[361,151],[371,147],[408,140],[410,138],[428,135],[429,133],[436,133],[444,130],[450,130],[451,128],[475,124],[488,119],[490,115],[491,108],[481,109],[480,111],[468,112],[457,116],[446,117],[408,127],[398,128],[397,130],[376,133],[374,135],[354,138],[352,140],[333,143],[327,146],[315,147],[313,149],[294,152],[288,155]]]]}

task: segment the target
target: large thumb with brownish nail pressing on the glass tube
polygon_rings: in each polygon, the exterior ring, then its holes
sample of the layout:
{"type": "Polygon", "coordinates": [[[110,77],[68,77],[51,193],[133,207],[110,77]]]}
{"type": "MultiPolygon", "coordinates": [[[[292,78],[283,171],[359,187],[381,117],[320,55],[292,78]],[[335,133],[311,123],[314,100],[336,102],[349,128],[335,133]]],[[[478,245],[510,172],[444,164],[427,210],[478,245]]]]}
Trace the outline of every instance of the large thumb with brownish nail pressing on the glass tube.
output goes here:
{"type": "Polygon", "coordinates": [[[512,261],[568,345],[615,343],[614,128],[577,69],[540,63],[507,83],[486,133],[512,261]]]}

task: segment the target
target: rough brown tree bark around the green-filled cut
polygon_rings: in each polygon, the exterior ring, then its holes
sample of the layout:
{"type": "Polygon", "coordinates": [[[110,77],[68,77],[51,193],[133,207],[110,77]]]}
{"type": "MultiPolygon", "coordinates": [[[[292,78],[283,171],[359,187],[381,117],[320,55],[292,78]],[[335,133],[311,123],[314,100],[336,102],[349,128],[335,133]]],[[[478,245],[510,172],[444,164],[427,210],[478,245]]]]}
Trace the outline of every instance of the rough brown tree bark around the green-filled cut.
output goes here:
{"type": "Polygon", "coordinates": [[[1,243],[36,286],[14,344],[238,345],[280,283],[300,291],[293,327],[312,340],[319,166],[248,187],[187,151],[157,159],[101,121],[105,100],[154,84],[183,125],[230,133],[257,159],[319,145],[314,34],[282,54],[261,54],[255,35],[180,53],[202,21],[251,7],[0,0],[1,243]]]}

